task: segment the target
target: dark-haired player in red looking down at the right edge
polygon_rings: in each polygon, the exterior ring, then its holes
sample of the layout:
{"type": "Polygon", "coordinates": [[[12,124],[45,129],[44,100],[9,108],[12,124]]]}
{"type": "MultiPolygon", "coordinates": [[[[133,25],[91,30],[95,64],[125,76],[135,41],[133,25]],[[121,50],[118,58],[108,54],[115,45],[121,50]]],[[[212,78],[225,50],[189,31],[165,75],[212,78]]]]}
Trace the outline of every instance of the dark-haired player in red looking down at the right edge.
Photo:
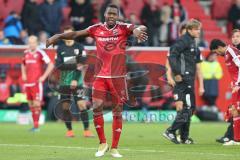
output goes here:
{"type": "Polygon", "coordinates": [[[240,52],[237,48],[226,45],[219,39],[211,41],[210,50],[220,56],[224,56],[226,66],[231,76],[232,103],[229,107],[233,117],[233,140],[224,145],[240,145],[240,52]]]}

